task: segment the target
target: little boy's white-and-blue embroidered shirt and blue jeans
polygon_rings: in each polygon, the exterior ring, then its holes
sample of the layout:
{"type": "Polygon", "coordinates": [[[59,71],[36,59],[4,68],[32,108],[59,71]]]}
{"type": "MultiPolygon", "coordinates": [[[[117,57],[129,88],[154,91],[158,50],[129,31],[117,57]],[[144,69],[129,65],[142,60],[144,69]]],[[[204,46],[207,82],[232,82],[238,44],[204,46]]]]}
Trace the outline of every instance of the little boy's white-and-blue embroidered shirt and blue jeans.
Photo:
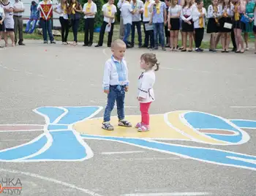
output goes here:
{"type": "Polygon", "coordinates": [[[104,122],[110,121],[110,115],[115,102],[117,105],[118,119],[124,119],[124,88],[126,86],[129,86],[127,62],[124,59],[118,61],[111,56],[105,63],[103,75],[103,88],[104,90],[109,90],[104,122]]]}

